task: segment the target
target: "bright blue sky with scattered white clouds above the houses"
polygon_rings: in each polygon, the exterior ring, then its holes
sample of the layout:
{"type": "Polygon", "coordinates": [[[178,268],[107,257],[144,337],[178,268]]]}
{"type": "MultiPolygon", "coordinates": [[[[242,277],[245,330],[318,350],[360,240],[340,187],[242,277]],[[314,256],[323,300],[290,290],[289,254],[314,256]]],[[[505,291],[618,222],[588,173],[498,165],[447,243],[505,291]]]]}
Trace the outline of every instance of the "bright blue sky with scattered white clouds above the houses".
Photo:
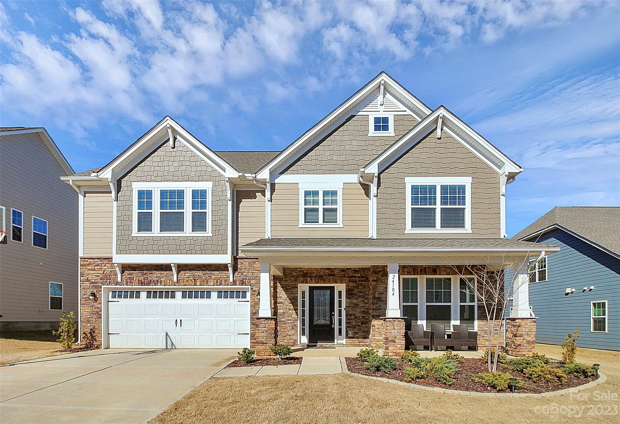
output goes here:
{"type": "Polygon", "coordinates": [[[76,171],[170,115],[213,150],[280,150],[380,71],[525,168],[514,235],[620,206],[620,4],[0,1],[0,125],[76,171]]]}

